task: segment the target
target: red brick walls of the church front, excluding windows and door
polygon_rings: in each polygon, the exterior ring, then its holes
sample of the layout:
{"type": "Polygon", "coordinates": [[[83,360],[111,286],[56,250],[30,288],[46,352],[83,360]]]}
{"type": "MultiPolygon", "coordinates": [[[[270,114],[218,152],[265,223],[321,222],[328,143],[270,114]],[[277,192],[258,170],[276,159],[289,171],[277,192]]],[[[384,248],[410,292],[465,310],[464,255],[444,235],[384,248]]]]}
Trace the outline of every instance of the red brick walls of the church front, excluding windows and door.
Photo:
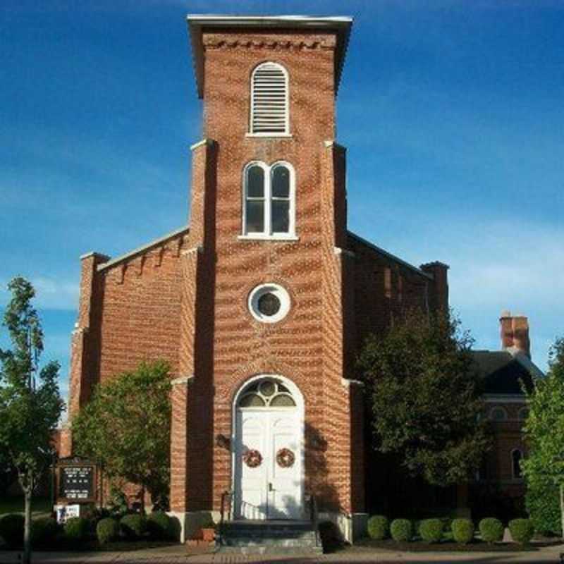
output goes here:
{"type": "MultiPolygon", "coordinates": [[[[96,276],[83,271],[80,319],[89,319],[91,356],[88,369],[73,368],[75,387],[90,390],[142,360],[171,362],[180,378],[171,505],[185,511],[217,509],[231,489],[231,454],[216,438],[231,436],[238,388],[255,374],[286,376],[305,398],[306,489],[324,508],[362,511],[362,388],[343,378],[354,376],[369,331],[384,330],[402,307],[427,304],[430,278],[348,237],[345,151],[326,143],[335,134],[334,35],[204,32],[203,42],[208,141],[192,153],[190,232],[96,276]],[[292,137],[245,136],[250,75],[262,61],[288,70],[292,137]],[[299,240],[238,238],[243,168],[252,160],[295,168],[299,240]],[[277,324],[247,309],[264,282],[290,294],[290,313],[277,324]]],[[[79,360],[73,353],[73,367],[79,360]]],[[[73,391],[73,401],[87,395],[73,391]]]]}

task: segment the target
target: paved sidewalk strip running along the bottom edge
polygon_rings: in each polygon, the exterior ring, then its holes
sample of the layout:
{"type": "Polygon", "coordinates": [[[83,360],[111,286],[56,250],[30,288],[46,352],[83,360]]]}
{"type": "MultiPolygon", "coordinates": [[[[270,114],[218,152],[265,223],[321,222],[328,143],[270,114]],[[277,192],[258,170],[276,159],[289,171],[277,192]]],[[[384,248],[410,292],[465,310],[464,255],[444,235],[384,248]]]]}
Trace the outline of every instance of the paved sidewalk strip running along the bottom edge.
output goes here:
{"type": "MultiPolygon", "coordinates": [[[[235,555],[222,553],[197,553],[187,551],[184,546],[169,546],[166,548],[152,548],[128,552],[89,552],[89,553],[63,553],[63,552],[38,552],[34,553],[33,564],[235,564],[235,563],[262,563],[271,564],[314,564],[314,563],[357,563],[376,562],[388,563],[417,563],[432,564],[437,562],[453,563],[483,563],[483,564],[560,564],[560,553],[564,553],[564,545],[541,548],[534,552],[474,552],[474,553],[447,553],[428,552],[410,553],[395,551],[375,551],[372,548],[351,547],[333,554],[321,556],[300,555],[235,555]]],[[[18,564],[21,560],[16,551],[0,551],[0,564],[18,564]]]]}

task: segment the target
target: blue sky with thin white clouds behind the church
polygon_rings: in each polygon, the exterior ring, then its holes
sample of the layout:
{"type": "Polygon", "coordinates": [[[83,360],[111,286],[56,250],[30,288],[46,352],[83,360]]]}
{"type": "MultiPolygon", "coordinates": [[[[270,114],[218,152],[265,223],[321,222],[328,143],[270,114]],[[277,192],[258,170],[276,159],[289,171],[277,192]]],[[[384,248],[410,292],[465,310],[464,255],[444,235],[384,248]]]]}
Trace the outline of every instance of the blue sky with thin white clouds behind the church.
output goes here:
{"type": "MultiPolygon", "coordinates": [[[[187,13],[350,15],[338,95],[350,228],[450,264],[477,348],[525,313],[564,333],[564,2],[4,0],[0,308],[37,287],[66,392],[79,260],[182,226],[201,137],[187,13]]],[[[4,341],[5,343],[5,341],[4,341]]]]}

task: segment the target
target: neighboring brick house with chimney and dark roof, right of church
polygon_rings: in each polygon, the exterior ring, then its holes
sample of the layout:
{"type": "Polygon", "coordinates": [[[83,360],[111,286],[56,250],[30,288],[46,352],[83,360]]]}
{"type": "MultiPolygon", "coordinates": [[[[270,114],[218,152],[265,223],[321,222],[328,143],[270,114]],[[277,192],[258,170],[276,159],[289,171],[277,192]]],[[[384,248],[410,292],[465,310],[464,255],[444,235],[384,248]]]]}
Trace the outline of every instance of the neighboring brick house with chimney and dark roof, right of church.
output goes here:
{"type": "Polygon", "coordinates": [[[505,496],[525,493],[520,460],[527,453],[522,426],[527,419],[523,386],[531,389],[541,370],[531,361],[527,317],[502,312],[502,350],[476,350],[474,360],[484,385],[484,416],[491,422],[493,446],[477,473],[476,484],[495,486],[505,496]]]}

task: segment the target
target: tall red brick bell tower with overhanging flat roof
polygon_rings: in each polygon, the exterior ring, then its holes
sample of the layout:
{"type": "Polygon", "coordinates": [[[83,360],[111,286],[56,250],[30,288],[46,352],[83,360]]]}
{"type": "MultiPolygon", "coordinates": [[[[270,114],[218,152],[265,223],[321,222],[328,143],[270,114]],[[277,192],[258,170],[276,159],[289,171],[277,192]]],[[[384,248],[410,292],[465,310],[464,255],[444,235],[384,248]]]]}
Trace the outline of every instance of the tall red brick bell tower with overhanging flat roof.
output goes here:
{"type": "Polygon", "coordinates": [[[274,505],[295,516],[314,494],[352,529],[364,510],[345,149],[334,140],[351,25],[350,18],[188,16],[204,139],[192,145],[182,376],[173,386],[171,509],[183,516],[185,534],[202,512],[217,515],[228,491],[235,515],[255,503],[263,518],[275,515],[274,505]],[[295,390],[302,415],[290,418],[288,445],[259,441],[252,458],[252,476],[262,476],[253,482],[259,502],[251,503],[238,414],[271,405],[270,388],[280,397],[295,390]],[[252,393],[256,404],[235,400],[252,393]],[[279,460],[299,461],[286,468],[301,472],[291,508],[270,493],[276,482],[267,469],[279,460]]]}

